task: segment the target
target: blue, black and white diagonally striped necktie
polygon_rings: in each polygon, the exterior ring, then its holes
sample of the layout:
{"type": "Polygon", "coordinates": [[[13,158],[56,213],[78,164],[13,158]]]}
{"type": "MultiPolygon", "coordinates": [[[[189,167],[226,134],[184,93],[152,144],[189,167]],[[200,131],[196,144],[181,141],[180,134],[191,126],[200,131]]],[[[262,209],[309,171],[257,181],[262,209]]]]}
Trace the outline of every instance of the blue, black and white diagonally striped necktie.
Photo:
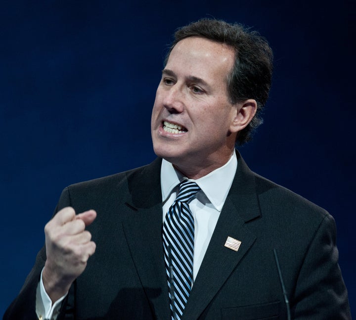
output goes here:
{"type": "Polygon", "coordinates": [[[163,248],[168,277],[172,320],[179,320],[193,279],[194,218],[188,203],[200,190],[191,181],[180,183],[175,202],[163,222],[163,248]]]}

